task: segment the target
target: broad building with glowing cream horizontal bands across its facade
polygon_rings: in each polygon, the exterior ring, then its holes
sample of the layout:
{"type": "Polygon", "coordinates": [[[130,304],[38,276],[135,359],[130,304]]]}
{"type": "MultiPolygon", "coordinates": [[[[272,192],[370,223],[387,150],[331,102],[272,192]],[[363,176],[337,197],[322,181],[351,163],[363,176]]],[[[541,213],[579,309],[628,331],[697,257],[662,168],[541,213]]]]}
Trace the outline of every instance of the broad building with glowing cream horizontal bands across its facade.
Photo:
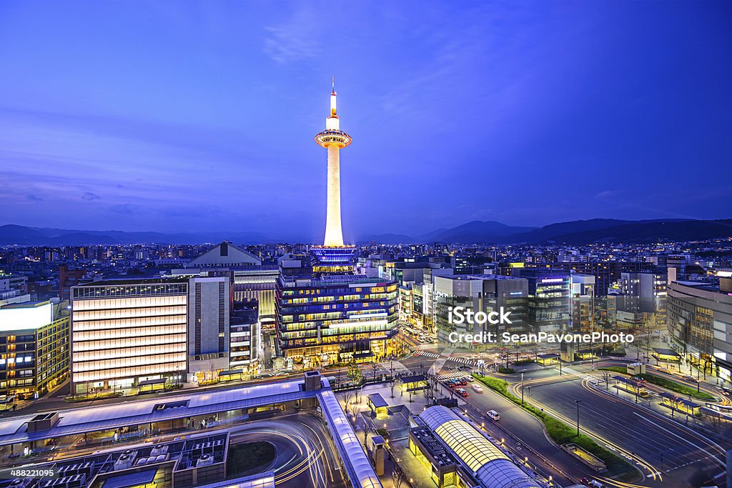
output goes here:
{"type": "Polygon", "coordinates": [[[188,277],[72,288],[72,394],[185,375],[189,293],[188,277]]]}

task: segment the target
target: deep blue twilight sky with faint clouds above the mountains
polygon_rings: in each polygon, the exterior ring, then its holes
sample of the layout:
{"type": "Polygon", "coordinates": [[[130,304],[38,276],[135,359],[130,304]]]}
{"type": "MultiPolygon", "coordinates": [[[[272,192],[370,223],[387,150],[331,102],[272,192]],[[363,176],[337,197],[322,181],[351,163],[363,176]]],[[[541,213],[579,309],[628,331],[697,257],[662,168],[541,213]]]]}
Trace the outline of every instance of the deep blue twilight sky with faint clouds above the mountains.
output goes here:
{"type": "Polygon", "coordinates": [[[2,1],[0,224],[732,217],[728,1],[2,1]]]}

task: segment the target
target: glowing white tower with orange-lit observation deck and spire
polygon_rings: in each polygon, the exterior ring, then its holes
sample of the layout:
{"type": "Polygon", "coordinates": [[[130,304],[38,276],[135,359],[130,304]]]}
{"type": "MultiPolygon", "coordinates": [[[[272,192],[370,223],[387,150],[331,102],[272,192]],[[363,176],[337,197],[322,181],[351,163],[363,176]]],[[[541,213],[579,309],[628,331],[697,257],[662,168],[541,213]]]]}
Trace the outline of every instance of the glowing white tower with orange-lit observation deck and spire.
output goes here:
{"type": "Polygon", "coordinates": [[[343,229],[340,225],[340,150],[351,143],[351,136],[340,129],[335,111],[335,76],[330,93],[330,116],[325,119],[325,130],[315,136],[315,142],[328,150],[328,206],[326,210],[325,247],[343,247],[343,229]]]}

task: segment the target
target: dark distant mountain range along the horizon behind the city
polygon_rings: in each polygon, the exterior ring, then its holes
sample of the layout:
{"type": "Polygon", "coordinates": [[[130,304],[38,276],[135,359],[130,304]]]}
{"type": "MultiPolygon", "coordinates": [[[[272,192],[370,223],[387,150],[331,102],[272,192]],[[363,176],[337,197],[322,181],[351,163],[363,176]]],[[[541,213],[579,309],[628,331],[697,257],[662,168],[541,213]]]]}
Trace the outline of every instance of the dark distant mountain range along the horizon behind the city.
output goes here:
{"type": "MultiPolygon", "coordinates": [[[[732,237],[732,219],[722,220],[575,220],[541,228],[518,227],[501,222],[476,220],[458,227],[438,229],[421,236],[380,234],[362,236],[359,244],[590,244],[593,242],[647,242],[658,240],[694,241],[732,237]]],[[[160,233],[121,230],[67,230],[23,225],[0,226],[0,245],[83,245],[83,244],[205,244],[220,241],[261,244],[287,241],[258,232],[160,233]]]]}

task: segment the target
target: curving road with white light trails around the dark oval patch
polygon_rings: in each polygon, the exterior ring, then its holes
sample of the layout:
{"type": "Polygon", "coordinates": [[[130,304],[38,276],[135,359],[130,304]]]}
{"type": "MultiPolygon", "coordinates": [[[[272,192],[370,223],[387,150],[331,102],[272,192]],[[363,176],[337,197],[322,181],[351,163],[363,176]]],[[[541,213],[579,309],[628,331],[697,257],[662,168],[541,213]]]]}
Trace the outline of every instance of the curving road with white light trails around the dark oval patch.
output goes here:
{"type": "Polygon", "coordinates": [[[275,472],[278,487],[346,487],[343,469],[327,428],[314,416],[296,415],[253,421],[232,429],[232,444],[268,442],[275,460],[262,469],[275,472]]]}

